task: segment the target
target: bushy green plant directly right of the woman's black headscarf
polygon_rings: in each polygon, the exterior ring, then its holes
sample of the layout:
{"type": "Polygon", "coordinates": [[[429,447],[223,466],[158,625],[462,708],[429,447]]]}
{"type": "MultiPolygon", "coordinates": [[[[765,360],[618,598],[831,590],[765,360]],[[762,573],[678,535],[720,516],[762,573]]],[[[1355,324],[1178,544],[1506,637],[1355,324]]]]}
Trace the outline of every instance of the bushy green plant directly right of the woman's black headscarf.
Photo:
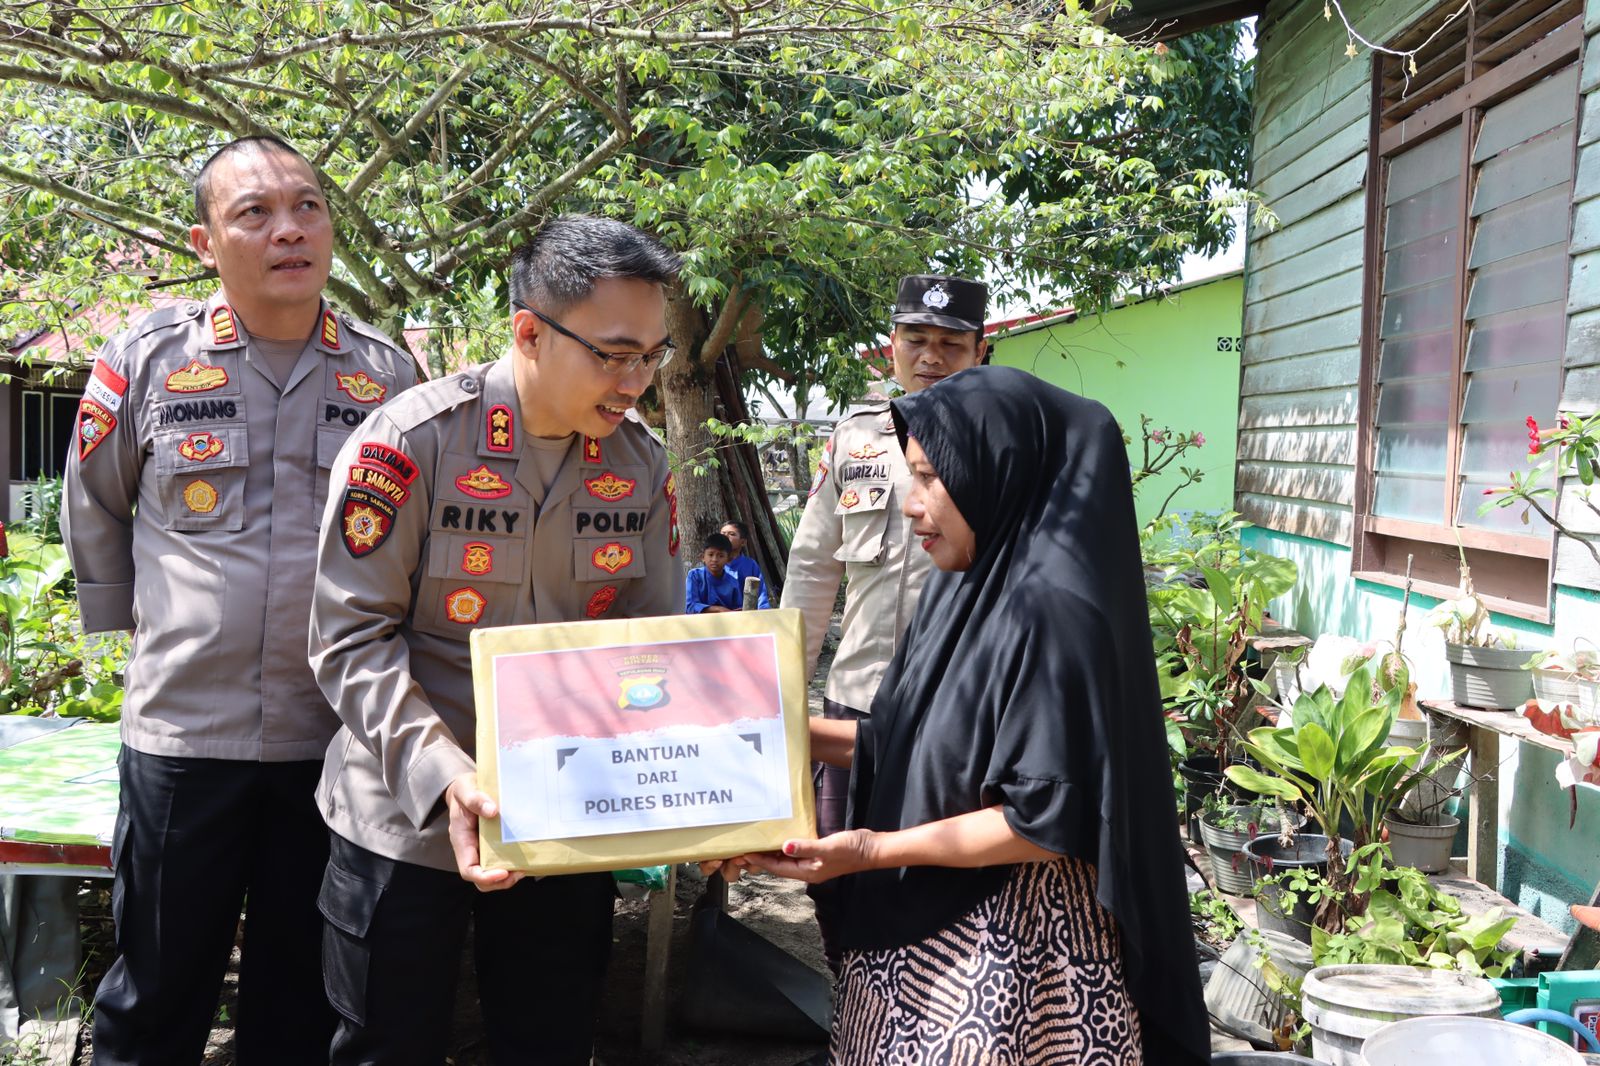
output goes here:
{"type": "Polygon", "coordinates": [[[1266,695],[1246,672],[1248,640],[1261,632],[1267,602],[1288,592],[1299,571],[1288,559],[1246,549],[1246,523],[1234,512],[1179,525],[1166,515],[1141,533],[1155,575],[1149,602],[1162,698],[1195,744],[1226,765],[1238,715],[1266,695]]]}

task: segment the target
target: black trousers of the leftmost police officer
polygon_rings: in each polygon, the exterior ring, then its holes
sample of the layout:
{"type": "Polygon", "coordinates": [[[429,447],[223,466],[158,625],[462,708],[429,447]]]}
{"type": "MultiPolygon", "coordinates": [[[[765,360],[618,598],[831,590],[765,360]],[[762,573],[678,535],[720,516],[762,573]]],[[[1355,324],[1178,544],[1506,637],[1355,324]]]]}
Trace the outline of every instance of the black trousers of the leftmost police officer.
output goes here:
{"type": "Polygon", "coordinates": [[[96,1066],[205,1055],[245,909],[237,1066],[328,1061],[317,887],[328,829],[322,762],[146,755],[123,747],[112,840],[117,962],[94,996],[96,1066]]]}

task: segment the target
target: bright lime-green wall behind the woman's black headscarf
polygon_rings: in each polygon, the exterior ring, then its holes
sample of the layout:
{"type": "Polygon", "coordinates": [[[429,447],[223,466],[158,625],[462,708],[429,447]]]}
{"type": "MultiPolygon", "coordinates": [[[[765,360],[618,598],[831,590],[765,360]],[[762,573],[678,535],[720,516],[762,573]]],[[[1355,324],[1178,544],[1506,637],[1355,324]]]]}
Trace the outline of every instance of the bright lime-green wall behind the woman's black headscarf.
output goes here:
{"type": "MultiPolygon", "coordinates": [[[[1243,290],[1235,274],[1104,315],[1016,333],[995,343],[994,362],[1109,407],[1134,439],[1128,448],[1134,464],[1141,463],[1139,415],[1174,432],[1205,434],[1205,447],[1181,459],[1205,479],[1178,493],[1171,509],[1226,511],[1234,498],[1243,290]]],[[[1146,480],[1139,522],[1157,517],[1181,482],[1176,466],[1146,480]]]]}

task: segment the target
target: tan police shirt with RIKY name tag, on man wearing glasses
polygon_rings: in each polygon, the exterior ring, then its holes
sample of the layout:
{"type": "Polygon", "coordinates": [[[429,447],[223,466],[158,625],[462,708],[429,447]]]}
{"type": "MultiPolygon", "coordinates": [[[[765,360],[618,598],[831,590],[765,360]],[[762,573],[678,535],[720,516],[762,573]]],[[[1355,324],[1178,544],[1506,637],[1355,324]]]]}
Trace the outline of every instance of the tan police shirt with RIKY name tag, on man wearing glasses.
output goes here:
{"type": "Polygon", "coordinates": [[[350,439],[328,498],[310,658],[344,728],[317,797],[405,863],[456,869],[440,800],[475,768],[475,627],[683,608],[666,448],[635,421],[573,437],[546,490],[520,410],[509,359],[414,389],[350,439]]]}

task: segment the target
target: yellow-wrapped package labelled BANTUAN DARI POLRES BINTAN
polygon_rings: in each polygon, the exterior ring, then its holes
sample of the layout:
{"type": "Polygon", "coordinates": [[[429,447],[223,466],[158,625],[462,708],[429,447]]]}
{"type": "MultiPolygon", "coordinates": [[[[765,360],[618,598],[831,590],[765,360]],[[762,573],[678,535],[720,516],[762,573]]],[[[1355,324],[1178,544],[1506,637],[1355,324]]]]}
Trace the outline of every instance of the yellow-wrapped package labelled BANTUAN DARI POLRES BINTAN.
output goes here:
{"type": "Polygon", "coordinates": [[[472,634],[482,863],[533,874],[816,836],[797,610],[472,634]]]}

